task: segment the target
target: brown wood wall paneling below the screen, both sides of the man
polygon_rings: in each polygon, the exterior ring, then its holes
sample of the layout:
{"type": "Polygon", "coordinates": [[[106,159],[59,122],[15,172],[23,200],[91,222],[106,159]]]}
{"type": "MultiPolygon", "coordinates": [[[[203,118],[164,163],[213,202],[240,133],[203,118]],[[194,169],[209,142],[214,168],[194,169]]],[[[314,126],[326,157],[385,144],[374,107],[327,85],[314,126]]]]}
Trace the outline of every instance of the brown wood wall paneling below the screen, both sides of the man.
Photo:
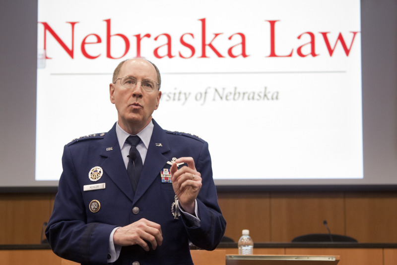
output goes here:
{"type": "MultiPolygon", "coordinates": [[[[55,194],[0,194],[0,245],[38,244],[55,194]]],[[[250,229],[254,242],[290,242],[310,233],[348,235],[360,243],[396,243],[395,192],[218,192],[235,242],[250,229]]]]}

